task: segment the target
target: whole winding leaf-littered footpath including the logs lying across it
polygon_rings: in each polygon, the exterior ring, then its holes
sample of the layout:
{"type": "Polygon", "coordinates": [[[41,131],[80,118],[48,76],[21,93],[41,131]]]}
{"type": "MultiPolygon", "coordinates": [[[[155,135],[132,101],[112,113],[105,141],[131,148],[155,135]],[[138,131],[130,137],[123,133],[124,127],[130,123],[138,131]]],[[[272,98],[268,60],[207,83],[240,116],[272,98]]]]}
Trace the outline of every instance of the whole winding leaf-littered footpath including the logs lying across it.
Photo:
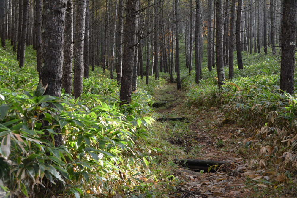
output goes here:
{"type": "Polygon", "coordinates": [[[217,107],[186,104],[176,84],[166,84],[154,98],[161,101],[154,107],[156,124],[163,139],[176,148],[164,157],[176,164],[174,175],[183,181],[169,197],[177,193],[178,197],[253,197],[261,192],[257,183],[247,180],[247,175],[254,179],[259,173],[249,169],[251,159],[241,154],[247,149],[238,145],[243,140],[237,134],[243,128],[232,124],[217,107]]]}

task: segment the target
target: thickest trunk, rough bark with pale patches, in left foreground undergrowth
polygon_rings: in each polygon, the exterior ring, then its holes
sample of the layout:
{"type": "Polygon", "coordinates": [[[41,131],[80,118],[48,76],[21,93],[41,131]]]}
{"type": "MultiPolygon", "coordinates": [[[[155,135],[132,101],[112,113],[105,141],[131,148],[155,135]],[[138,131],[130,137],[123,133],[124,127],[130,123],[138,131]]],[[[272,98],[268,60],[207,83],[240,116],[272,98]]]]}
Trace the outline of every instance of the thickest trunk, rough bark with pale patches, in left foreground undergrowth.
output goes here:
{"type": "MultiPolygon", "coordinates": [[[[61,97],[66,0],[43,3],[41,82],[47,85],[44,95],[61,97]]],[[[43,124],[50,125],[48,121],[43,124]]],[[[62,136],[60,130],[55,132],[55,147],[58,147],[62,144],[62,136]]]]}

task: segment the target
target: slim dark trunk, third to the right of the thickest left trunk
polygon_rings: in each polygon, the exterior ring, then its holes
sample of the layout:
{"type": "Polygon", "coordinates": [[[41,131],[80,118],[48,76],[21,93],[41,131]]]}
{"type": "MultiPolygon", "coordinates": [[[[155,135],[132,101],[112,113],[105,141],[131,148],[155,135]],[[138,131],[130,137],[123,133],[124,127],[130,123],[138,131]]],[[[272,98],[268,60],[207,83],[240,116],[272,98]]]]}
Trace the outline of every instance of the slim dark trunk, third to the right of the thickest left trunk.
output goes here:
{"type": "Polygon", "coordinates": [[[89,0],[86,0],[86,18],[85,18],[85,35],[83,44],[83,77],[89,77],[89,19],[90,8],[89,0]]]}

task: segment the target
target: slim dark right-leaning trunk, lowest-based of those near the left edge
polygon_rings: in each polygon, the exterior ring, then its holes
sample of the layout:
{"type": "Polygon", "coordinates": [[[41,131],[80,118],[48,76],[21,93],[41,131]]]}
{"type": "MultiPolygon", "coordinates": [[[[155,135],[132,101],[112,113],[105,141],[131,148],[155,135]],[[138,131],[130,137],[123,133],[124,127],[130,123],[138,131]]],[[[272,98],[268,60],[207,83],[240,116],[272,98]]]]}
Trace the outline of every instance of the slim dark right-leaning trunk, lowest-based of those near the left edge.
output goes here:
{"type": "Polygon", "coordinates": [[[26,38],[27,38],[27,28],[28,28],[28,9],[29,9],[29,0],[24,1],[23,9],[23,25],[22,25],[22,38],[20,45],[20,67],[24,66],[25,62],[25,50],[26,50],[26,38]]]}

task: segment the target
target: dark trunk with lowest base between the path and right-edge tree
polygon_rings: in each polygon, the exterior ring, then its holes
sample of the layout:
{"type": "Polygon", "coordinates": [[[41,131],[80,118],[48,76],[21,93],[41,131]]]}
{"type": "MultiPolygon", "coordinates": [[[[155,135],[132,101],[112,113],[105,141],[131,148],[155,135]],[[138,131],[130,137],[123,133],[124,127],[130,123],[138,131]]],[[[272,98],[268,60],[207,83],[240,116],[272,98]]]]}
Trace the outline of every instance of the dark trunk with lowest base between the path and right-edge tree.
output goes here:
{"type": "Polygon", "coordinates": [[[219,89],[225,81],[224,61],[223,61],[223,4],[222,0],[216,0],[216,60],[219,89]]]}

